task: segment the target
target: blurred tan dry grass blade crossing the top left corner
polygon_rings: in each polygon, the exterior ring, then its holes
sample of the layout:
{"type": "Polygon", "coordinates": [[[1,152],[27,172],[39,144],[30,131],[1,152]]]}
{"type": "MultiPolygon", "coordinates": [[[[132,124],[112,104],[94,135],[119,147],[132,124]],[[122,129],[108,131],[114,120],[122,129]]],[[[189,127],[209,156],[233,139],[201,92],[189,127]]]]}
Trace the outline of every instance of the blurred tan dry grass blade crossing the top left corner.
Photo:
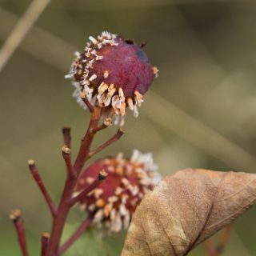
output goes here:
{"type": "Polygon", "coordinates": [[[0,51],[0,72],[49,2],[50,0],[34,0],[18,20],[0,51]]]}

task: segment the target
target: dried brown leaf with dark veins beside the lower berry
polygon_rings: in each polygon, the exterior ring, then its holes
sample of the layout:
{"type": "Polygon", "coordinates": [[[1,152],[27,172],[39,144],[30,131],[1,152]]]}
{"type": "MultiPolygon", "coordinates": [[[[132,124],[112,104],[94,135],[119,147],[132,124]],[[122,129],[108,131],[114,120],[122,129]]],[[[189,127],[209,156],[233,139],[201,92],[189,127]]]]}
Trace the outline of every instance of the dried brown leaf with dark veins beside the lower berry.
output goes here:
{"type": "Polygon", "coordinates": [[[146,194],[122,256],[186,255],[256,203],[256,174],[180,170],[146,194]]]}

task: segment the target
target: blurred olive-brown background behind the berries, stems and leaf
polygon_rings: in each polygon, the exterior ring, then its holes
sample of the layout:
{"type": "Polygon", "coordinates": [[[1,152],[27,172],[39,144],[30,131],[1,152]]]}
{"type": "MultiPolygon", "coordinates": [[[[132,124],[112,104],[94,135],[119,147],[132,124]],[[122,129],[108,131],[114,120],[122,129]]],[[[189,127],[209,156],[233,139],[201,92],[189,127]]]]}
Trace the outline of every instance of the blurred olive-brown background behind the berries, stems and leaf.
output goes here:
{"type": "MultiPolygon", "coordinates": [[[[163,175],[189,166],[256,172],[256,2],[0,0],[0,48],[14,26],[24,25],[31,2],[41,2],[34,8],[38,20],[32,17],[28,33],[23,28],[9,38],[7,54],[0,54],[6,61],[0,66],[0,255],[20,254],[8,219],[14,208],[23,212],[31,255],[39,254],[41,232],[50,231],[50,214],[26,161],[37,162],[58,199],[65,177],[61,128],[72,127],[76,151],[89,118],[64,75],[74,51],[102,30],[146,40],[160,72],[139,118],[129,113],[125,136],[99,156],[150,151],[163,175]],[[17,49],[8,54],[12,42],[17,49]]],[[[94,145],[115,129],[98,134],[94,145]]],[[[255,217],[256,207],[234,222],[223,255],[256,255],[255,217]]],[[[66,235],[80,218],[74,210],[66,235]]],[[[91,232],[67,255],[119,255],[119,238],[91,232]]],[[[206,253],[199,246],[191,255],[206,253]]]]}

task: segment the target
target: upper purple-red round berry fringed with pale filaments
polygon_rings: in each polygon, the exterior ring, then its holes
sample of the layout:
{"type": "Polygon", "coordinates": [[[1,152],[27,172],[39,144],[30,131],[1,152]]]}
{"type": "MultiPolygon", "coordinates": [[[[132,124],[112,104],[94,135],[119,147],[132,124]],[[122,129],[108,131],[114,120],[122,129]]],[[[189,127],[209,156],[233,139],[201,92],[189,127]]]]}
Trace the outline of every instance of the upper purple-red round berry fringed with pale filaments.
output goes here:
{"type": "Polygon", "coordinates": [[[142,46],[124,40],[115,34],[102,32],[97,39],[90,37],[85,50],[73,62],[70,74],[75,86],[74,97],[82,106],[87,97],[92,105],[104,108],[120,125],[126,114],[126,106],[138,116],[142,95],[158,75],[158,69],[150,65],[142,46]]]}

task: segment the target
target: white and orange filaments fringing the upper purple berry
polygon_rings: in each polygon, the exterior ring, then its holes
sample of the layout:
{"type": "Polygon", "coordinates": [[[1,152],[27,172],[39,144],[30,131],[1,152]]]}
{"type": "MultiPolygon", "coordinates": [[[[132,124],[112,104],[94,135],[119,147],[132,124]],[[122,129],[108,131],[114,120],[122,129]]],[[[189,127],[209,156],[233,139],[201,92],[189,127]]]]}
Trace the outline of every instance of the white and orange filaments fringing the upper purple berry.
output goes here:
{"type": "MultiPolygon", "coordinates": [[[[122,126],[124,124],[124,117],[126,114],[126,106],[134,112],[134,117],[138,117],[138,106],[141,106],[143,99],[142,94],[138,91],[134,92],[133,98],[126,98],[121,87],[116,88],[114,83],[107,84],[102,82],[99,86],[94,85],[94,80],[97,78],[97,74],[92,74],[92,70],[95,62],[100,62],[103,58],[98,54],[103,46],[117,46],[118,40],[116,40],[116,34],[110,34],[109,32],[102,32],[98,38],[89,37],[90,42],[87,42],[85,52],[80,54],[75,53],[76,59],[74,60],[70,74],[67,74],[65,78],[72,78],[74,90],[74,98],[77,98],[77,102],[80,106],[86,109],[86,104],[82,98],[87,98],[92,106],[112,107],[110,115],[114,115],[114,123],[122,126]],[[77,81],[75,76],[82,76],[81,81],[77,81]]],[[[158,69],[153,67],[155,77],[158,76],[158,69]]],[[[104,70],[102,78],[109,77],[109,71],[104,70]]]]}

